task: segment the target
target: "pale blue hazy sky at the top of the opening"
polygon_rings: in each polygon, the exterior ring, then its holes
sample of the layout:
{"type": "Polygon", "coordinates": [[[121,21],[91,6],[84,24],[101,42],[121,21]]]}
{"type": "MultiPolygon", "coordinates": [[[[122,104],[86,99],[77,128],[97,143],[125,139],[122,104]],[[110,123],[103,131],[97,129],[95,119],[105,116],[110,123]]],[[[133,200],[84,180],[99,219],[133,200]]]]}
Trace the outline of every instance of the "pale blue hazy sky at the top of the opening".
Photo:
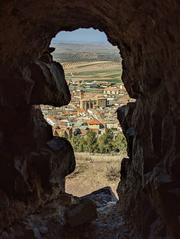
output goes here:
{"type": "Polygon", "coordinates": [[[85,43],[106,43],[107,37],[104,32],[89,29],[78,29],[72,32],[62,31],[52,39],[52,43],[59,42],[85,42],[85,43]]]}

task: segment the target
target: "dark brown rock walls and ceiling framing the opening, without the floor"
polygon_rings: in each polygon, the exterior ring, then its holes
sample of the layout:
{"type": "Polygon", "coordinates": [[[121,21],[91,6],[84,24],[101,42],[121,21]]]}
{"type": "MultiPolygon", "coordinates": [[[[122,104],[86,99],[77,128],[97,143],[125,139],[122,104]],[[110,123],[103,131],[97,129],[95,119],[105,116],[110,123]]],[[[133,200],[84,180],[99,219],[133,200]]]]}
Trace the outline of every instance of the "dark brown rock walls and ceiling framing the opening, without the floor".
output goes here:
{"type": "Polygon", "coordinates": [[[59,170],[67,163],[62,177],[73,169],[71,146],[63,142],[65,149],[54,152],[47,142],[61,143],[32,105],[70,101],[62,67],[48,46],[60,30],[94,27],[121,50],[123,81],[137,99],[130,130],[124,129],[131,143],[118,187],[132,238],[180,238],[179,9],[179,0],[1,1],[1,228],[57,196],[50,183],[52,158],[58,157],[53,162],[59,170]]]}

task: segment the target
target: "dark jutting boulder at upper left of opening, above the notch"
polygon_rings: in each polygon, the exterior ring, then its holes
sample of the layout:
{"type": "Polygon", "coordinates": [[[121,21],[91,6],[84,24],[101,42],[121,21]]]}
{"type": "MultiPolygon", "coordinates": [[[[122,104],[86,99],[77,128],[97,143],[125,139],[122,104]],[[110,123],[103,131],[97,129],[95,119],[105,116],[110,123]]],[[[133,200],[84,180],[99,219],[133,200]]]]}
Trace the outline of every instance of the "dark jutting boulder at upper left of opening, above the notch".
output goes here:
{"type": "Polygon", "coordinates": [[[32,89],[31,104],[62,106],[70,102],[64,70],[59,63],[51,60],[51,55],[44,54],[29,69],[32,81],[36,82],[32,89]]]}

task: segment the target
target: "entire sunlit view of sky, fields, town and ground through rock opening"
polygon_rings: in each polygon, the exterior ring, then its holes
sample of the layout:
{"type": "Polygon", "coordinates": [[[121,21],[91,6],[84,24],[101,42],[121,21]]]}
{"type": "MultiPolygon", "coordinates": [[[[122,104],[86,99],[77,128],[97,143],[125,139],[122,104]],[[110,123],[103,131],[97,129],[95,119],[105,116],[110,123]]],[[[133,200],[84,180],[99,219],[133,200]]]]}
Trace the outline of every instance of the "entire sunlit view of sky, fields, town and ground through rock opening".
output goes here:
{"type": "Polygon", "coordinates": [[[116,110],[130,101],[121,80],[119,50],[94,29],[60,32],[51,46],[72,99],[61,108],[41,108],[54,135],[67,138],[76,154],[76,170],[66,179],[66,192],[82,196],[105,186],[116,192],[120,162],[127,154],[116,110]]]}

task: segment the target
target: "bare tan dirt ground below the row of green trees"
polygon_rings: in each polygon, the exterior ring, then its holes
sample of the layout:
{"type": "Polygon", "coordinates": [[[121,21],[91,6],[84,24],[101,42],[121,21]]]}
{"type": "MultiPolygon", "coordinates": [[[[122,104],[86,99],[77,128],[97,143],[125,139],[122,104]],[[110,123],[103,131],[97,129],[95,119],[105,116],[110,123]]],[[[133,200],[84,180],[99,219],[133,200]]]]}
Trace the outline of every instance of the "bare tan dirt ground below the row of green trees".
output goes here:
{"type": "Polygon", "coordinates": [[[74,196],[83,196],[110,186],[116,194],[123,157],[121,154],[76,153],[76,170],[66,178],[66,192],[74,196]]]}

